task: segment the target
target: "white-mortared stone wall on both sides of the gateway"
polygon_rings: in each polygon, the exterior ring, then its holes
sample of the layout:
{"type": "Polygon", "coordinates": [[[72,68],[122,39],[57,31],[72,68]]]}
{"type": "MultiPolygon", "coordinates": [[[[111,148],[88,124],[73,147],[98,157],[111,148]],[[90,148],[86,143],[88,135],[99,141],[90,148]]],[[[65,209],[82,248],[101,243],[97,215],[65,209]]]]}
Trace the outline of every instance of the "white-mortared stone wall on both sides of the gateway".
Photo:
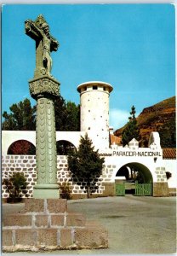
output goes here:
{"type": "MultiPolygon", "coordinates": [[[[109,162],[110,163],[110,162],[109,162]]],[[[117,166],[111,164],[103,165],[102,175],[94,180],[91,186],[90,197],[99,196],[113,196],[115,194],[115,183],[112,175],[117,171],[117,166]]],[[[32,198],[33,186],[37,183],[36,170],[36,156],[35,155],[3,155],[2,158],[2,178],[8,178],[14,172],[23,172],[28,183],[23,198],[32,198]]],[[[154,196],[168,196],[174,195],[175,189],[169,188],[166,177],[166,168],[164,166],[157,166],[155,173],[157,175],[157,182],[153,183],[154,196]]],[[[80,199],[87,198],[86,181],[84,178],[71,178],[71,172],[68,171],[66,155],[57,156],[57,182],[60,185],[68,183],[71,188],[71,198],[80,199]]],[[[9,194],[2,186],[2,197],[5,200],[9,194]]]]}

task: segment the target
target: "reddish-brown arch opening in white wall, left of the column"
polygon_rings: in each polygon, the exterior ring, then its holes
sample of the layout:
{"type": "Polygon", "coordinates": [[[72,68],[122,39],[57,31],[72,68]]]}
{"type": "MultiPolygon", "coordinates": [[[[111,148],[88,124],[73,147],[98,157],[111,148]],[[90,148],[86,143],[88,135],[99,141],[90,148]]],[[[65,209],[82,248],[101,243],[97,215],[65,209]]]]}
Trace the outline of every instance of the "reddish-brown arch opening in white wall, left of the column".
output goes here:
{"type": "Polygon", "coordinates": [[[12,143],[9,148],[7,154],[36,154],[35,146],[26,141],[26,140],[18,140],[12,143]]]}

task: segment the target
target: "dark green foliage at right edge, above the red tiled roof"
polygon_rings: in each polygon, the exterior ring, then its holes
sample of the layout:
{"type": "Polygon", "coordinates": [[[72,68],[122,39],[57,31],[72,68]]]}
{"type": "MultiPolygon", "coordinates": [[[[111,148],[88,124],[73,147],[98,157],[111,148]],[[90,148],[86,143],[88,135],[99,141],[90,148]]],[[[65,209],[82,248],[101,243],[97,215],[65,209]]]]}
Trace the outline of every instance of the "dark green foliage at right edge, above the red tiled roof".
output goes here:
{"type": "Polygon", "coordinates": [[[159,129],[162,148],[176,148],[176,122],[170,119],[159,129]]]}

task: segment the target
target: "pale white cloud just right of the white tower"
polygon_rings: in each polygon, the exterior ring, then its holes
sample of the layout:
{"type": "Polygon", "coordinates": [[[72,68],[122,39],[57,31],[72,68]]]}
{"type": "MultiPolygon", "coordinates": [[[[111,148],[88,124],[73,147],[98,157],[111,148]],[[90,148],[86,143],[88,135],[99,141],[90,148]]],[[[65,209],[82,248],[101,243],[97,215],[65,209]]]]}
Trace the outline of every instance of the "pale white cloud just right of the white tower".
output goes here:
{"type": "Polygon", "coordinates": [[[111,108],[110,109],[110,126],[113,127],[114,131],[123,127],[127,124],[129,112],[122,109],[111,108]]]}

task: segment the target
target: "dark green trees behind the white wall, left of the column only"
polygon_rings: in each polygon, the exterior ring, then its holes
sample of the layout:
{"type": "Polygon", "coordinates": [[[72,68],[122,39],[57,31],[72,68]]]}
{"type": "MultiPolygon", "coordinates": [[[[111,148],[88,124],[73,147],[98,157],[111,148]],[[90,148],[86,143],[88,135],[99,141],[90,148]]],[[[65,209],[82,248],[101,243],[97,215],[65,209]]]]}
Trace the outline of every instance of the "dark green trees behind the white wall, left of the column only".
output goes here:
{"type": "Polygon", "coordinates": [[[2,130],[7,131],[34,131],[36,129],[36,106],[31,107],[31,102],[25,99],[23,102],[13,104],[11,113],[3,112],[2,130]]]}

